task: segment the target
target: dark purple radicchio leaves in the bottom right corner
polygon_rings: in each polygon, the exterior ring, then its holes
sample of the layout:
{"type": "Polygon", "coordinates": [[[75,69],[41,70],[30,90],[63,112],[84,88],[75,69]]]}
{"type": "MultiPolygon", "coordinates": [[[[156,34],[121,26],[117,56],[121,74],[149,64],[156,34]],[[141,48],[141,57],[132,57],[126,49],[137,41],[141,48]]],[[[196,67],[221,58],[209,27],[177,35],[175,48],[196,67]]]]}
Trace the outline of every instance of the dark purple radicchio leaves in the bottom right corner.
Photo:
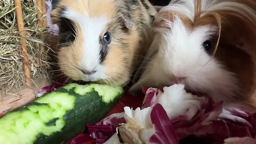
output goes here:
{"type": "Polygon", "coordinates": [[[202,125],[193,134],[198,136],[209,135],[213,140],[223,143],[223,140],[232,137],[255,138],[256,115],[249,115],[241,110],[227,110],[219,115],[219,118],[207,125],[202,125]]]}

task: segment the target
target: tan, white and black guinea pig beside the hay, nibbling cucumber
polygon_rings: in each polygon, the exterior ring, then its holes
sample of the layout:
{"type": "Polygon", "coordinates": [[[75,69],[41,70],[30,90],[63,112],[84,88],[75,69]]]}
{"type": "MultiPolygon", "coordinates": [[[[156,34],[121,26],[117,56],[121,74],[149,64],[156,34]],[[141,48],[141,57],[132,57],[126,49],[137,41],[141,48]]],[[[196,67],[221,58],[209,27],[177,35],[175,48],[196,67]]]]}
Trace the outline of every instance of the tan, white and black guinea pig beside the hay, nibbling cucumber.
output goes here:
{"type": "Polygon", "coordinates": [[[74,81],[126,84],[150,45],[157,13],[147,0],[60,0],[58,63],[74,81]]]}

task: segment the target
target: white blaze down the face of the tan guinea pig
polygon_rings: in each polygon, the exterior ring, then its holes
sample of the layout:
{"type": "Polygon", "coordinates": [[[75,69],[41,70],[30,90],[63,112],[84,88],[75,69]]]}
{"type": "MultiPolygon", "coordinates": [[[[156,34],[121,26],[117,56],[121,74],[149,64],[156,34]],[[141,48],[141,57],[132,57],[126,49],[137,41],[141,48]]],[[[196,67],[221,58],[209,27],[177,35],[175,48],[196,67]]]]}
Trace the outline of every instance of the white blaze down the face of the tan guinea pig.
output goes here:
{"type": "Polygon", "coordinates": [[[79,14],[72,10],[65,11],[63,16],[76,22],[82,29],[83,47],[77,47],[77,49],[83,49],[83,59],[79,63],[79,66],[87,71],[97,70],[92,75],[84,75],[83,81],[97,81],[100,78],[106,78],[104,73],[105,68],[100,65],[99,38],[109,22],[107,17],[105,15],[101,17],[89,17],[89,15],[79,14]]]}

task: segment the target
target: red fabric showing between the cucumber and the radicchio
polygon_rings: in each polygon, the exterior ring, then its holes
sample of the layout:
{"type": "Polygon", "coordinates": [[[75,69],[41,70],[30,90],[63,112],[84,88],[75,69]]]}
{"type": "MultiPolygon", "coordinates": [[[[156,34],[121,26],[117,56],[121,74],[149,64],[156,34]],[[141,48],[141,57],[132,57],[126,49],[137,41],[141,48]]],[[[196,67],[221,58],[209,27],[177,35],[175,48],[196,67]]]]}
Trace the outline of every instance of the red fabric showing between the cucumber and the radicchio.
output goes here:
{"type": "MultiPolygon", "coordinates": [[[[142,92],[137,95],[130,95],[129,93],[127,93],[127,89],[125,89],[125,93],[124,93],[121,101],[105,117],[107,117],[111,114],[123,112],[125,106],[129,106],[129,107],[133,107],[133,108],[141,107],[143,98],[144,98],[144,94],[142,92]]],[[[81,134],[78,134],[75,138],[77,139],[77,138],[85,136],[85,135],[87,135],[87,134],[81,133],[81,134]]],[[[89,137],[89,135],[88,135],[88,137],[89,137]]],[[[94,139],[92,139],[92,138],[89,138],[89,139],[91,139],[91,140],[84,142],[84,143],[79,143],[79,144],[95,144],[94,139]]],[[[73,142],[72,140],[70,140],[66,144],[76,144],[76,143],[73,142]]]]}

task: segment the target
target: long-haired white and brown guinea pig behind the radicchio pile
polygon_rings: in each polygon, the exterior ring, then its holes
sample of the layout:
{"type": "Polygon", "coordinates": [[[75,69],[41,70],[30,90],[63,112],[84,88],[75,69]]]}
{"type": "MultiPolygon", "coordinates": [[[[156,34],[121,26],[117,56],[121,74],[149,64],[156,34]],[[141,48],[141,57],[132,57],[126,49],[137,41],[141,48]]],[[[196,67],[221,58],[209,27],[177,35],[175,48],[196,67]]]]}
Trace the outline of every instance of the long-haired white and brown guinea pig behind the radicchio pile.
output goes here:
{"type": "Polygon", "coordinates": [[[131,92],[178,83],[214,100],[256,97],[256,1],[171,1],[154,28],[131,92]]]}

